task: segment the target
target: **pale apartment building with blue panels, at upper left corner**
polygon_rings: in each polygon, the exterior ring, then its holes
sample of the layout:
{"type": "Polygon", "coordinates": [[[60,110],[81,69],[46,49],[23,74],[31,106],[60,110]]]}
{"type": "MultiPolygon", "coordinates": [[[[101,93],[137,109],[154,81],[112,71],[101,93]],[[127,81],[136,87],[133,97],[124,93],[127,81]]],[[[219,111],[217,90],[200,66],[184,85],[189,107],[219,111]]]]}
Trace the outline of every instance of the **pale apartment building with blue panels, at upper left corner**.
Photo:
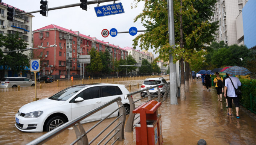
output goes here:
{"type": "MultiPolygon", "coordinates": [[[[31,14],[18,15],[14,17],[14,21],[7,20],[7,8],[11,7],[15,9],[15,15],[24,13],[25,11],[10,6],[6,3],[0,3],[0,34],[15,34],[19,33],[19,36],[25,40],[28,44],[27,47],[32,47],[32,17],[31,14]]],[[[0,47],[2,51],[8,51],[3,47],[0,47]]],[[[26,54],[26,51],[24,52],[26,54]]]]}

